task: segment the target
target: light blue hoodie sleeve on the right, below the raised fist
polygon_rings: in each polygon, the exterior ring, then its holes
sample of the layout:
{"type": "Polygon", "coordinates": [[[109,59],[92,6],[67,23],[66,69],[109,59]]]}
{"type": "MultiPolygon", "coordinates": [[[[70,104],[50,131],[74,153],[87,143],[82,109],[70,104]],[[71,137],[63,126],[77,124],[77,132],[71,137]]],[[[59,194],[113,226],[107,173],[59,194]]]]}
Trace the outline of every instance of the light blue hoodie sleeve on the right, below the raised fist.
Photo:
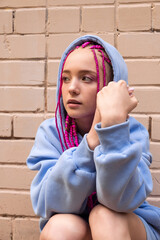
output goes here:
{"type": "Polygon", "coordinates": [[[100,145],[94,152],[98,201],[130,212],[152,191],[147,130],[134,118],[108,128],[96,125],[100,145]]]}

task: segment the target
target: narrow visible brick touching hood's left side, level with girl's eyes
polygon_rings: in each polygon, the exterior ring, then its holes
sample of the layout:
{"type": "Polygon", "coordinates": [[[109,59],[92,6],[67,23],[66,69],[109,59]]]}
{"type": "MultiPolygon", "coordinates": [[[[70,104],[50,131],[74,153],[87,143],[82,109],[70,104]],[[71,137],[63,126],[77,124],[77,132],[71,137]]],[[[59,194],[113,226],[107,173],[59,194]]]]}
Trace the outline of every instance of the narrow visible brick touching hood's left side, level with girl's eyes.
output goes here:
{"type": "Polygon", "coordinates": [[[48,84],[56,85],[58,77],[59,60],[50,60],[48,62],[48,84]]]}

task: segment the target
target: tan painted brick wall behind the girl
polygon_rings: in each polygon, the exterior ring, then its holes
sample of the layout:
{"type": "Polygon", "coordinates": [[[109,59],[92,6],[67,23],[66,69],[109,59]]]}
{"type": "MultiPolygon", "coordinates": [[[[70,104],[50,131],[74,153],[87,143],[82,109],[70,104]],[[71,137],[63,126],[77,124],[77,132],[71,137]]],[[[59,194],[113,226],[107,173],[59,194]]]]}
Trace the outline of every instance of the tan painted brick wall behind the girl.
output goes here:
{"type": "Polygon", "coordinates": [[[0,240],[38,240],[25,161],[40,122],[54,114],[57,69],[75,38],[97,34],[124,56],[148,129],[160,207],[160,1],[0,1],[0,240]]]}

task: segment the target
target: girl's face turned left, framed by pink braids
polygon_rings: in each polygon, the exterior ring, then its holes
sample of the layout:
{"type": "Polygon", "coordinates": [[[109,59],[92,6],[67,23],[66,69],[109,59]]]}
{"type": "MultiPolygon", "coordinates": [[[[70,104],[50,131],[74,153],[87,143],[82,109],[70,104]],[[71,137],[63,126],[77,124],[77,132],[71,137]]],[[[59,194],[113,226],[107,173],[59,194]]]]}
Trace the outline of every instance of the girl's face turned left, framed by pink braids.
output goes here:
{"type": "MultiPolygon", "coordinates": [[[[62,81],[63,104],[68,115],[75,118],[77,125],[85,122],[90,129],[97,97],[97,71],[91,49],[80,47],[70,53],[64,64],[62,81]]],[[[100,79],[100,85],[101,82],[100,79]]]]}

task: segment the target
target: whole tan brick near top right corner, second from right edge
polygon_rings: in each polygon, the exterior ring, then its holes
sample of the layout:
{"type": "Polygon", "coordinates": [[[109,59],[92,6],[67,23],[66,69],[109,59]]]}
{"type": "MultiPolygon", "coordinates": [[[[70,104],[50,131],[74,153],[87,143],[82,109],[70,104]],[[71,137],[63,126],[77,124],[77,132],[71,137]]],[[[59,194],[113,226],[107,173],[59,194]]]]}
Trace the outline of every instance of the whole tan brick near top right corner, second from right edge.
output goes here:
{"type": "Polygon", "coordinates": [[[151,5],[122,5],[118,8],[120,31],[146,31],[151,29],[151,5]]]}

